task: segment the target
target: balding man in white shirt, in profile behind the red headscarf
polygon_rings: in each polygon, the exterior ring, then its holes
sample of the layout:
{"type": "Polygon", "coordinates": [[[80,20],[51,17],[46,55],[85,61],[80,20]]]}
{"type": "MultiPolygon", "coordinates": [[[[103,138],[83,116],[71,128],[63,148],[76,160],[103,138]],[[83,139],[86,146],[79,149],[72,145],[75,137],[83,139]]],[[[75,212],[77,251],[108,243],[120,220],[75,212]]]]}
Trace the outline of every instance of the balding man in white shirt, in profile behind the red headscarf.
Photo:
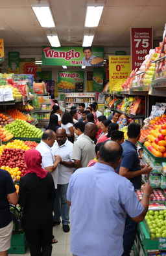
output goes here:
{"type": "Polygon", "coordinates": [[[56,170],[56,167],[60,164],[62,158],[58,155],[53,155],[51,152],[51,147],[53,147],[55,137],[56,135],[52,130],[46,130],[43,133],[42,141],[40,141],[36,150],[38,150],[42,155],[42,168],[52,174],[54,187],[57,188],[58,170],[56,170]]]}

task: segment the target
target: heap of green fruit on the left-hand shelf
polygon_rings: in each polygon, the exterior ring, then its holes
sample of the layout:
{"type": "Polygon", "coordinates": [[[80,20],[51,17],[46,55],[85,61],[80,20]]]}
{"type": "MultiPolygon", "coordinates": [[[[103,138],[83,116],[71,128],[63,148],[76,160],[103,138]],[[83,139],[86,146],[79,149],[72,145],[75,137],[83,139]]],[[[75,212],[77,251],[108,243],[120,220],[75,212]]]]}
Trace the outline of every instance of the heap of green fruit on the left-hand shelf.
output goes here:
{"type": "Polygon", "coordinates": [[[42,130],[36,128],[36,126],[19,119],[16,119],[16,121],[11,124],[6,124],[5,128],[9,132],[12,132],[14,137],[40,138],[43,134],[42,130]]]}

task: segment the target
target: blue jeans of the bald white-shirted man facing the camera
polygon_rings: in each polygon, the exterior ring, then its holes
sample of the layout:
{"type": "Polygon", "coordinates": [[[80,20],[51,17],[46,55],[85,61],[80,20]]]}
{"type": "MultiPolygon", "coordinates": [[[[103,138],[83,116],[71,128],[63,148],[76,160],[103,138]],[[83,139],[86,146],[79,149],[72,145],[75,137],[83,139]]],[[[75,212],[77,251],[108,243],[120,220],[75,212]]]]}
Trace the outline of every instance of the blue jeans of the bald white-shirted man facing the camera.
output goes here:
{"type": "Polygon", "coordinates": [[[69,225],[69,205],[67,205],[67,184],[58,184],[56,190],[56,198],[54,200],[54,221],[60,221],[62,217],[62,225],[69,225]]]}

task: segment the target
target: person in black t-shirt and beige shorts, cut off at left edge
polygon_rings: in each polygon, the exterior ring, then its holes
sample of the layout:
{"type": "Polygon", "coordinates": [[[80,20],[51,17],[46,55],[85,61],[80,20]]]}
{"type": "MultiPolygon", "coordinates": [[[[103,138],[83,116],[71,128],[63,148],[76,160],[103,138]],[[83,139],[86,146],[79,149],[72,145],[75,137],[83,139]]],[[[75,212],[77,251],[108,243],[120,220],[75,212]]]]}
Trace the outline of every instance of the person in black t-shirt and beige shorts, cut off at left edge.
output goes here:
{"type": "Polygon", "coordinates": [[[18,203],[18,194],[10,174],[0,169],[0,256],[8,255],[12,236],[13,221],[9,202],[18,203]]]}

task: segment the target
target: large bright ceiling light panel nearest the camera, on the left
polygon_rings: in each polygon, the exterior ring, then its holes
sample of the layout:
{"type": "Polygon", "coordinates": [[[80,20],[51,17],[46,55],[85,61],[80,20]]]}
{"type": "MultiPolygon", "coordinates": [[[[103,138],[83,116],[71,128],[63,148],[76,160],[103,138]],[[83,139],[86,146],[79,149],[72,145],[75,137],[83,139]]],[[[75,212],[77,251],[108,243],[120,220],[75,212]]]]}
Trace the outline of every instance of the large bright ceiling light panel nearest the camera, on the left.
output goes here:
{"type": "Polygon", "coordinates": [[[31,7],[42,27],[55,27],[53,15],[49,5],[38,4],[31,5],[31,7]]]}

